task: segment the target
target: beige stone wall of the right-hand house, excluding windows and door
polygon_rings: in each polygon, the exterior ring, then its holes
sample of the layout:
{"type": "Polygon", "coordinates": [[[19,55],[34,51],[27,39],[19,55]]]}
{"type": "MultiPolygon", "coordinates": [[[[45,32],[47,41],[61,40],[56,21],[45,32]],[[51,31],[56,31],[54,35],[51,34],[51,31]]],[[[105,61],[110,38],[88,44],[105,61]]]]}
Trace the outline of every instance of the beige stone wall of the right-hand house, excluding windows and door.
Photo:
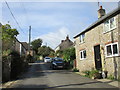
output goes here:
{"type": "Polygon", "coordinates": [[[85,39],[83,43],[80,43],[80,37],[75,38],[77,68],[80,72],[95,68],[94,46],[100,45],[102,70],[108,71],[108,75],[118,75],[118,62],[120,61],[120,56],[106,57],[105,49],[105,45],[112,42],[118,42],[118,50],[120,54],[120,26],[118,26],[120,25],[120,18],[118,20],[118,16],[120,17],[120,14],[115,16],[117,27],[112,31],[104,33],[103,23],[101,23],[100,25],[85,32],[85,39]],[[87,57],[84,60],[80,60],[81,50],[86,50],[87,57]]]}

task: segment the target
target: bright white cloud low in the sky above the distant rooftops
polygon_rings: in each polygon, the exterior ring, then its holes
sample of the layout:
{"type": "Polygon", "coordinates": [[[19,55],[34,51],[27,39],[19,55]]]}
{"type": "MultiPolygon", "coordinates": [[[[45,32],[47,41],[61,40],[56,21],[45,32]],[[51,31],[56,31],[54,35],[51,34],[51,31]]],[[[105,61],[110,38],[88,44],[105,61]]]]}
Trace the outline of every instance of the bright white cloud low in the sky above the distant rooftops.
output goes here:
{"type": "Polygon", "coordinates": [[[56,32],[49,32],[47,34],[41,35],[38,38],[41,38],[44,43],[47,43],[51,48],[55,48],[60,44],[61,40],[65,39],[67,35],[70,34],[70,31],[66,27],[62,27],[56,32]]]}

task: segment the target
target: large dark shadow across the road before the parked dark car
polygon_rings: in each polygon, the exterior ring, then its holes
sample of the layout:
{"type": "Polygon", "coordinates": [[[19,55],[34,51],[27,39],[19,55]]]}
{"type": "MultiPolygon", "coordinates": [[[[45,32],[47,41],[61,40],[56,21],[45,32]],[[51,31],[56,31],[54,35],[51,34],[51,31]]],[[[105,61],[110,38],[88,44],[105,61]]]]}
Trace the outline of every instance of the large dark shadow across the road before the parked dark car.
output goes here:
{"type": "Polygon", "coordinates": [[[23,75],[19,76],[19,79],[26,79],[26,78],[37,78],[41,76],[46,76],[46,74],[70,74],[71,71],[69,70],[52,70],[50,68],[50,63],[44,63],[42,61],[36,61],[35,63],[29,63],[29,69],[27,70],[26,73],[23,75]]]}

